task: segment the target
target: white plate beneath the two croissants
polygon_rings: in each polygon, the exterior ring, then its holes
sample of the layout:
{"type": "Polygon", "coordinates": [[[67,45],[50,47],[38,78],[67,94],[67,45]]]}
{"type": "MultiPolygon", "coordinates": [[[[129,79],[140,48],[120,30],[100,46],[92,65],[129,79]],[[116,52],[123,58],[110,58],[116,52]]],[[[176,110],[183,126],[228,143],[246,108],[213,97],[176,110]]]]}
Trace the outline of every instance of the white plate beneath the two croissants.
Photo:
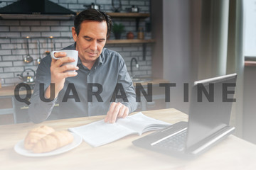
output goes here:
{"type": "Polygon", "coordinates": [[[24,140],[21,140],[20,142],[18,142],[14,146],[14,150],[18,154],[21,154],[21,155],[26,156],[26,157],[48,157],[48,156],[53,156],[53,155],[56,155],[56,154],[62,154],[64,152],[70,151],[71,149],[74,149],[75,147],[78,147],[78,145],[81,144],[82,137],[76,135],[75,133],[72,133],[72,135],[74,136],[74,140],[73,140],[72,143],[70,143],[69,145],[66,145],[64,147],[60,147],[59,149],[55,149],[51,152],[35,154],[32,151],[27,150],[27,149],[24,148],[24,140]]]}

